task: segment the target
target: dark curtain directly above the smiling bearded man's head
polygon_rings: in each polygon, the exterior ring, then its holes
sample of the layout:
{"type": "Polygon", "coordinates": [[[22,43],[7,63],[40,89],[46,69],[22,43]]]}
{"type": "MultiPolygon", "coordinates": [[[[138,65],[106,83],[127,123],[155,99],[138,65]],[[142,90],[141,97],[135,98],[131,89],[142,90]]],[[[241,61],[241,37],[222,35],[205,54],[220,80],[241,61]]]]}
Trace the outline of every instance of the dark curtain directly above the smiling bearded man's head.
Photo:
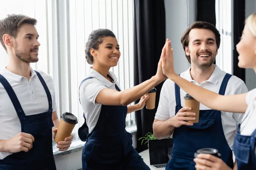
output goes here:
{"type": "Polygon", "coordinates": [[[197,20],[216,26],[215,0],[197,1],[197,20]]]}

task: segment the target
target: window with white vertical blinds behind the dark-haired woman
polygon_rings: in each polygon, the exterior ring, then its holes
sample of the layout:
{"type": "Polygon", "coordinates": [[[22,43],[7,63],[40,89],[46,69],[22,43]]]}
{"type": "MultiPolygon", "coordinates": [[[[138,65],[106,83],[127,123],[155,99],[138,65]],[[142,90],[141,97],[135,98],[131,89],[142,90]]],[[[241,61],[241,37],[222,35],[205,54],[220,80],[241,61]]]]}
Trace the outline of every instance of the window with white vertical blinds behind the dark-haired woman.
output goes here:
{"type": "MultiPolygon", "coordinates": [[[[107,28],[113,31],[120,45],[121,57],[111,71],[118,78],[122,89],[134,86],[133,66],[133,1],[131,0],[70,0],[70,89],[71,111],[83,111],[78,101],[80,82],[87,76],[91,66],[86,62],[84,49],[91,31],[107,28]]],[[[84,121],[79,122],[81,126],[84,121]]],[[[128,114],[126,125],[134,125],[134,113],[128,114]]]]}

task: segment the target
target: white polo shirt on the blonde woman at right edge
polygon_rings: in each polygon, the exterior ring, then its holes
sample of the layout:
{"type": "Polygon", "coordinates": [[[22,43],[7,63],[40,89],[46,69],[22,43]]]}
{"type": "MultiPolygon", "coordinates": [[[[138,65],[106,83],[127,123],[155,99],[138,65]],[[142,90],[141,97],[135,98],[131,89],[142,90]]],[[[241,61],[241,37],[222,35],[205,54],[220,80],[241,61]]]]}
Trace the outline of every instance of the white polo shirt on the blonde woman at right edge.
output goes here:
{"type": "Polygon", "coordinates": [[[246,103],[248,107],[242,119],[242,123],[240,126],[240,134],[244,136],[251,136],[251,134],[256,129],[256,88],[247,93],[246,103]]]}

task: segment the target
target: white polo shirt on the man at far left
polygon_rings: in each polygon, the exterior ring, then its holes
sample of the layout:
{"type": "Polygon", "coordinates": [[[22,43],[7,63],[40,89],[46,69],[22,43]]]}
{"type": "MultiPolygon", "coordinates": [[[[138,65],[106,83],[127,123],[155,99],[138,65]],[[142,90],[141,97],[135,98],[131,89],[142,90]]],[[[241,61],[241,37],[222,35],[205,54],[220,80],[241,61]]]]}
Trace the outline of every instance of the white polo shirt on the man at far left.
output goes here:
{"type": "MultiPolygon", "coordinates": [[[[46,82],[52,96],[52,111],[56,111],[55,91],[52,77],[43,71],[38,71],[46,82]]],[[[25,115],[44,113],[49,110],[47,94],[35,71],[31,68],[31,78],[19,76],[8,71],[0,70],[12,86],[25,115]]],[[[20,119],[2,83],[0,83],[0,139],[11,139],[21,132],[20,119]]],[[[0,159],[12,153],[0,152],[0,159]]]]}

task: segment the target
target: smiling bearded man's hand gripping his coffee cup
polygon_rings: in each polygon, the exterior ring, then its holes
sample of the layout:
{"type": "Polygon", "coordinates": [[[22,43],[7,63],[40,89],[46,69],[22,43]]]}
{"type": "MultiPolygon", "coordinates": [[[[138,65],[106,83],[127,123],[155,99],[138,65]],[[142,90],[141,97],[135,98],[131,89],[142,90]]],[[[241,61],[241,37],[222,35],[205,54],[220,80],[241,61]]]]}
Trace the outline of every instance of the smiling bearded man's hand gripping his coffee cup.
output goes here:
{"type": "Polygon", "coordinates": [[[195,113],[186,112],[186,111],[191,111],[191,108],[189,107],[181,108],[175,116],[168,119],[168,121],[171,122],[169,124],[171,124],[174,127],[180,127],[181,125],[192,126],[193,123],[185,122],[184,120],[195,120],[195,117],[187,117],[187,116],[195,116],[195,113]]]}

